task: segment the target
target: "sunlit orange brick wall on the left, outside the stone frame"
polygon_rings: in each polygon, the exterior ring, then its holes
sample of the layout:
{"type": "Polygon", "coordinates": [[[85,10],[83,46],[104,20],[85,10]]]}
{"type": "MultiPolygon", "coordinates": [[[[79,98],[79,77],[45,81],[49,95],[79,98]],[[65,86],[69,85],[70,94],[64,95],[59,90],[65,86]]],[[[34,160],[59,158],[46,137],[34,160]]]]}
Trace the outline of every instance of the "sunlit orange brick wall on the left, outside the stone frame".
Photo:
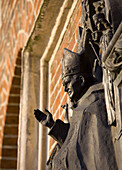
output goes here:
{"type": "MultiPolygon", "coordinates": [[[[12,121],[12,126],[16,127],[18,124],[20,77],[17,76],[21,76],[20,63],[18,67],[21,58],[18,54],[27,43],[42,3],[43,0],[0,1],[0,158],[5,157],[6,160],[11,160],[11,156],[5,154],[6,151],[2,153],[3,145],[10,148],[15,143],[17,147],[16,139],[6,140],[6,143],[3,137],[5,133],[8,136],[18,134],[17,128],[7,128],[12,121]],[[16,116],[12,117],[14,112],[16,116]]],[[[0,168],[3,167],[1,165],[0,168]]],[[[12,163],[3,168],[15,168],[16,162],[11,166],[12,163]]]]}

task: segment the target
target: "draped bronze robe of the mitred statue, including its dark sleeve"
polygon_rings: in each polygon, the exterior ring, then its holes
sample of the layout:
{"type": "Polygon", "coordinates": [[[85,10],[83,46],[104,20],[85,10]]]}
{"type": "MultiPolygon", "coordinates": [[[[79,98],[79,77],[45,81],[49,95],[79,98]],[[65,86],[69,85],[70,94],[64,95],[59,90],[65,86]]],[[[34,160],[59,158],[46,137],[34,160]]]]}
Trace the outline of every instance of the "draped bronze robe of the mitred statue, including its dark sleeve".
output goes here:
{"type": "Polygon", "coordinates": [[[102,84],[91,86],[73,109],[70,124],[57,120],[49,135],[63,145],[53,170],[117,170],[102,84]]]}

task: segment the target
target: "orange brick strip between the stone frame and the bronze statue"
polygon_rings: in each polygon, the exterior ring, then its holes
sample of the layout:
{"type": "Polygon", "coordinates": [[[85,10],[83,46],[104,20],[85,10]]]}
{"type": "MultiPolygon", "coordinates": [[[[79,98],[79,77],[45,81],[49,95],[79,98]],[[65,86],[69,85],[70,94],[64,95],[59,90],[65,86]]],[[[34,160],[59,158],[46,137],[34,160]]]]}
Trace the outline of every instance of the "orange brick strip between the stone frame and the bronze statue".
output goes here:
{"type": "MultiPolygon", "coordinates": [[[[81,26],[81,1],[78,4],[70,18],[70,22],[66,29],[65,35],[58,48],[56,55],[50,62],[50,81],[49,81],[49,96],[50,96],[50,112],[53,113],[54,120],[57,118],[64,120],[64,110],[61,105],[66,104],[68,98],[64,93],[64,87],[61,80],[61,65],[63,48],[76,51],[77,38],[78,38],[78,26],[81,26]]],[[[55,146],[55,141],[49,137],[49,155],[55,146]]]]}

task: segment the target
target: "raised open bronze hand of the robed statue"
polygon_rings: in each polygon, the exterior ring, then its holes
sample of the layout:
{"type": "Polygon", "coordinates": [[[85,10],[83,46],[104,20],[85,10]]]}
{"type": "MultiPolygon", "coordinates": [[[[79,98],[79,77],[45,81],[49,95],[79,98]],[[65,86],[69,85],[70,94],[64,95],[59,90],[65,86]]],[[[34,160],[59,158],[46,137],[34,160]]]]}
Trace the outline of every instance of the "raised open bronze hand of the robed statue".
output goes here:
{"type": "Polygon", "coordinates": [[[42,125],[48,128],[51,128],[53,126],[54,120],[53,120],[52,114],[47,109],[45,109],[45,113],[43,113],[39,109],[34,110],[34,115],[36,119],[39,122],[41,122],[42,125]]]}

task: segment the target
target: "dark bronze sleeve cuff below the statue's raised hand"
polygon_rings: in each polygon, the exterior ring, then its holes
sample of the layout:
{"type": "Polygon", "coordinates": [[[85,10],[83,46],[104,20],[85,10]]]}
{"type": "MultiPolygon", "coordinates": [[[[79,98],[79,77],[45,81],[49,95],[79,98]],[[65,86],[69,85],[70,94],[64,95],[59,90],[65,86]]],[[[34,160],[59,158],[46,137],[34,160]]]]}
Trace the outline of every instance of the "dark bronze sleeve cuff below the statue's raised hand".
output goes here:
{"type": "Polygon", "coordinates": [[[69,123],[64,123],[60,119],[57,119],[48,135],[62,146],[68,134],[69,126],[69,123]]]}

